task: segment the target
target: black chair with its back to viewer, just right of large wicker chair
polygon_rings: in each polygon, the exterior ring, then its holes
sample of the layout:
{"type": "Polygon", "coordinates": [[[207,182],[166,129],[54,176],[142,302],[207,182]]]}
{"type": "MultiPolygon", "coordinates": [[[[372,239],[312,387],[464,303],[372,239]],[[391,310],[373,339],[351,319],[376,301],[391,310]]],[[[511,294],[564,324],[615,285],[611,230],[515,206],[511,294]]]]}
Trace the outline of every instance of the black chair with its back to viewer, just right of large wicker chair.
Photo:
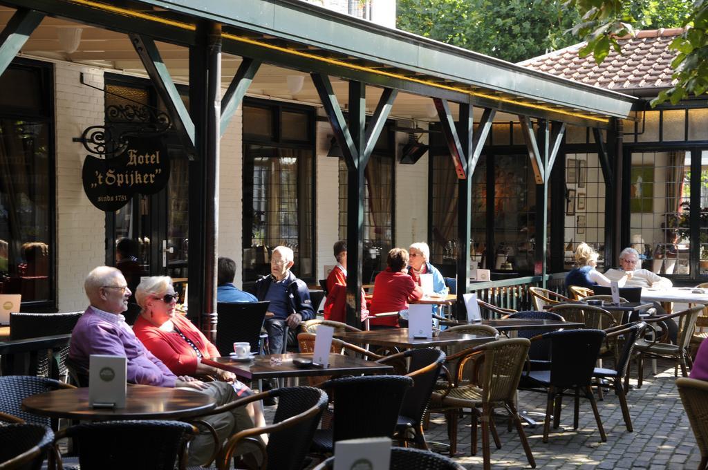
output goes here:
{"type": "Polygon", "coordinates": [[[603,423],[600,421],[598,405],[590,389],[595,362],[598,360],[605,332],[590,329],[551,331],[544,333],[541,338],[549,338],[551,341],[551,367],[549,370],[526,372],[523,377],[525,376],[526,379],[525,385],[530,384],[534,389],[543,389],[548,395],[543,442],[548,442],[551,415],[554,418],[553,427],[559,427],[561,400],[567,389],[572,389],[575,396],[573,429],[578,429],[578,407],[582,391],[585,398],[590,400],[590,406],[593,407],[600,438],[603,442],[607,441],[603,423]]]}

